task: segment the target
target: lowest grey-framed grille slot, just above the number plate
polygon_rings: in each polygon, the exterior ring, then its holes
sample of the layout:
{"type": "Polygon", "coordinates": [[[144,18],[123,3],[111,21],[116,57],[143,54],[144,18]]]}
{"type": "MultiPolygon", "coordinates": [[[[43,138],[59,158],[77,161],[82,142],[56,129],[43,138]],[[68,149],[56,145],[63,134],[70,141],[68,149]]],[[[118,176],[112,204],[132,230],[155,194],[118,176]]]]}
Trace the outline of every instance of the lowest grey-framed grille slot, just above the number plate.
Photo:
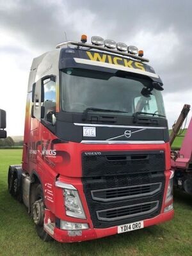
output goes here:
{"type": "Polygon", "coordinates": [[[141,216],[143,214],[149,214],[150,212],[156,211],[158,205],[159,201],[155,201],[134,205],[126,205],[122,207],[115,207],[112,209],[97,211],[97,218],[98,220],[104,221],[124,220],[127,218],[133,218],[136,216],[141,216]]]}

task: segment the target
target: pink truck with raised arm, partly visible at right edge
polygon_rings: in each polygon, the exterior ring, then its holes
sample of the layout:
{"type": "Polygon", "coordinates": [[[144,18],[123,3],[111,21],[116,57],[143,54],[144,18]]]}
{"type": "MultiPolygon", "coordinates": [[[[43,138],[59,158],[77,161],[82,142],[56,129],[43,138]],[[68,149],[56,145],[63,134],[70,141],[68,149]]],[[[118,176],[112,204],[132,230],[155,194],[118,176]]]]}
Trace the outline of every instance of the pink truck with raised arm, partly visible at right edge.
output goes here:
{"type": "MultiPolygon", "coordinates": [[[[185,104],[180,116],[173,125],[173,131],[170,135],[170,145],[173,144],[175,137],[180,133],[180,127],[186,120],[190,110],[190,105],[185,104]]],[[[192,118],[189,122],[188,129],[182,141],[179,150],[172,150],[172,168],[175,170],[174,184],[177,188],[192,195],[192,118]]]]}

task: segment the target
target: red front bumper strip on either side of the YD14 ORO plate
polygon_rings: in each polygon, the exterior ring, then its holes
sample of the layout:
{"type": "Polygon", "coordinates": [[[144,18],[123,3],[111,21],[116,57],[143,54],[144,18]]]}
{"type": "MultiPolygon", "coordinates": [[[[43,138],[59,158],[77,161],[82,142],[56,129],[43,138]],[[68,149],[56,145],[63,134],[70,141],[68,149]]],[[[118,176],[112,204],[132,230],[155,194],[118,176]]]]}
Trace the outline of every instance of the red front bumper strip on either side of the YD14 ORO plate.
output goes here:
{"type": "MultiPolygon", "coordinates": [[[[174,210],[157,215],[154,218],[144,220],[144,227],[149,227],[162,223],[164,221],[172,220],[174,216],[174,210]]],[[[125,223],[126,224],[126,223],[125,223]]],[[[110,228],[89,228],[82,230],[81,232],[70,232],[68,230],[61,230],[60,228],[54,228],[53,238],[61,243],[72,243],[93,240],[105,236],[112,236],[118,234],[117,226],[110,228]]]]}

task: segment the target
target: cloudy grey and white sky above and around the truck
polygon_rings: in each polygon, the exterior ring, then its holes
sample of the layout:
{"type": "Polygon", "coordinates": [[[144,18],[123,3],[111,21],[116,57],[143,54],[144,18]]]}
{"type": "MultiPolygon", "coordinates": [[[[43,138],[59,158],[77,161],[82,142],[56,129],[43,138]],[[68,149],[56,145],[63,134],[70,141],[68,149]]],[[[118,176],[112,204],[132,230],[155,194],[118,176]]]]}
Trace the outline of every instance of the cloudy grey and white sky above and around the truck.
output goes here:
{"type": "MultiPolygon", "coordinates": [[[[192,105],[192,1],[0,0],[0,108],[8,136],[24,134],[33,58],[82,34],[143,49],[164,84],[169,127],[192,105]]],[[[188,123],[191,113],[188,117],[188,123]]]]}

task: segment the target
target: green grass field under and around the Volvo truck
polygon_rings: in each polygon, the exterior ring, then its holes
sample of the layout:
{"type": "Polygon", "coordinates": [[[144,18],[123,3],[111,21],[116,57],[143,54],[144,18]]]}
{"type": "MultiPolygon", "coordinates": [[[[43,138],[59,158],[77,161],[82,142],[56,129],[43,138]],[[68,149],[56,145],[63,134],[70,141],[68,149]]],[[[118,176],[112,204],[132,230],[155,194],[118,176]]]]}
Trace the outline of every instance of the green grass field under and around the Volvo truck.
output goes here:
{"type": "Polygon", "coordinates": [[[7,170],[21,161],[22,150],[0,150],[0,255],[158,256],[192,254],[192,197],[175,193],[172,221],[94,241],[61,244],[45,243],[36,236],[35,225],[26,207],[10,196],[7,170]]]}

